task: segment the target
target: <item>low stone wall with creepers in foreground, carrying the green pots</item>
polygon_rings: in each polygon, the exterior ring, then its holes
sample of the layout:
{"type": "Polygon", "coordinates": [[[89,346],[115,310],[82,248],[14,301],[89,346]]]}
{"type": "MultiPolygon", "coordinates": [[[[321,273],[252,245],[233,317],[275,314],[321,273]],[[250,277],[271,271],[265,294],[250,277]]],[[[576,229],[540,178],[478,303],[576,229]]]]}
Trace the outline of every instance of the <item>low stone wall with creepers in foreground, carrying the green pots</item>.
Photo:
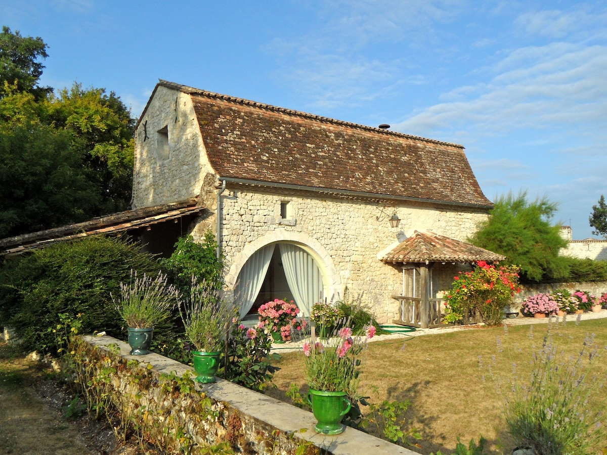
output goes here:
{"type": "Polygon", "coordinates": [[[86,362],[80,371],[89,374],[90,380],[96,377],[111,384],[120,406],[130,409],[124,414],[152,439],[168,444],[185,438],[191,441],[193,453],[196,446],[229,443],[243,454],[294,454],[299,448],[305,454],[322,449],[336,455],[416,455],[352,428],[337,436],[316,434],[311,413],[226,380],[180,390],[176,382],[171,386],[170,375],[194,374],[191,367],[158,354],[131,356],[129,345],[112,337],[83,336],[81,340],[84,352],[78,355],[86,357],[86,362]],[[93,363],[100,367],[93,368],[93,363]]]}

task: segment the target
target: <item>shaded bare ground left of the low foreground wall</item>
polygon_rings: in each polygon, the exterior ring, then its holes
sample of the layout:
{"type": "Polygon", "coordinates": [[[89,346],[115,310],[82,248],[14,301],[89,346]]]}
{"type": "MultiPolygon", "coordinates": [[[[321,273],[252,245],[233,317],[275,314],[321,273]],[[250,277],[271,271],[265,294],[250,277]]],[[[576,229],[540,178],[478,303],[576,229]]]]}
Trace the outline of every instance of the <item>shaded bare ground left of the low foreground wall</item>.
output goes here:
{"type": "Polygon", "coordinates": [[[45,375],[40,362],[0,343],[0,453],[90,453],[75,430],[36,396],[33,387],[45,375]]]}

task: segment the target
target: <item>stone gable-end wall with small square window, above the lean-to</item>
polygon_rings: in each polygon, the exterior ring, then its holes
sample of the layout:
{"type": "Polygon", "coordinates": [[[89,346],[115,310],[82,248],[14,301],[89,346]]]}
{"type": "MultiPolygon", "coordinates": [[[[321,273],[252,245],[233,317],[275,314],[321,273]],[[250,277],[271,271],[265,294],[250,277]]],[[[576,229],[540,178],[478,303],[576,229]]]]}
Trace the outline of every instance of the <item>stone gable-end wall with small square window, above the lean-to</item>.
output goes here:
{"type": "Polygon", "coordinates": [[[212,172],[204,151],[190,96],[159,86],[135,130],[132,207],[196,197],[203,176],[212,172]]]}

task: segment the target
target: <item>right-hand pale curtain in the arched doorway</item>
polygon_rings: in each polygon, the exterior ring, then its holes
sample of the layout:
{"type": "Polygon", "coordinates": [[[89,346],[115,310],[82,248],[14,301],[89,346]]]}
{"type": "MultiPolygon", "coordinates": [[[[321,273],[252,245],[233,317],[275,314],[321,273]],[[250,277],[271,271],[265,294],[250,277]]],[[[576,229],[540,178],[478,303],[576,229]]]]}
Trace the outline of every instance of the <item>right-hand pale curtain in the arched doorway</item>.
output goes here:
{"type": "Polygon", "coordinates": [[[290,243],[280,243],[280,259],[295,303],[305,315],[322,302],[322,275],[308,252],[290,243]]]}

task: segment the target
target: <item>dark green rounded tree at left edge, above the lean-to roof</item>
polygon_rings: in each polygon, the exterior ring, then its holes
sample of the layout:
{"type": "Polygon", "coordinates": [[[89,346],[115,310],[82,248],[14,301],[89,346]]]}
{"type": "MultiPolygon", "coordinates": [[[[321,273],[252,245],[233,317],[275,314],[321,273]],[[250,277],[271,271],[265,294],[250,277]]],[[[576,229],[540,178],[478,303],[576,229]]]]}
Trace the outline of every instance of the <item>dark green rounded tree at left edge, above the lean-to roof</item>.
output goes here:
{"type": "Polygon", "coordinates": [[[0,99],[0,238],[87,220],[98,205],[69,132],[40,110],[30,93],[0,99]]]}

